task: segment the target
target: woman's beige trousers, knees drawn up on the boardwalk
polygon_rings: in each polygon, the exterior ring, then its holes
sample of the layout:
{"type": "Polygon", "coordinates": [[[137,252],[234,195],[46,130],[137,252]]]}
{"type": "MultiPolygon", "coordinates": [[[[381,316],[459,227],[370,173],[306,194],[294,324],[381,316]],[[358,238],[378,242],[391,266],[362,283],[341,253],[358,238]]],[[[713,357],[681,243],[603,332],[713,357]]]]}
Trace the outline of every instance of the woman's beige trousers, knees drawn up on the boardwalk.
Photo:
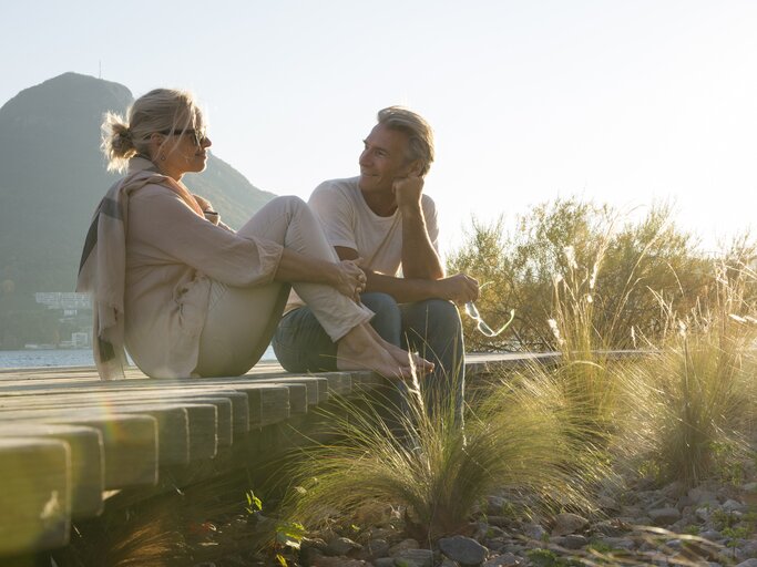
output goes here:
{"type": "MultiPolygon", "coordinates": [[[[237,234],[273,240],[310,258],[338,261],[318,219],[298,197],[275,198],[237,234]]],[[[304,282],[291,287],[335,342],[374,316],[331,287],[304,282]]],[[[213,281],[194,373],[239,375],[253,368],[270,343],[288,295],[287,284],[237,288],[213,281]]]]}

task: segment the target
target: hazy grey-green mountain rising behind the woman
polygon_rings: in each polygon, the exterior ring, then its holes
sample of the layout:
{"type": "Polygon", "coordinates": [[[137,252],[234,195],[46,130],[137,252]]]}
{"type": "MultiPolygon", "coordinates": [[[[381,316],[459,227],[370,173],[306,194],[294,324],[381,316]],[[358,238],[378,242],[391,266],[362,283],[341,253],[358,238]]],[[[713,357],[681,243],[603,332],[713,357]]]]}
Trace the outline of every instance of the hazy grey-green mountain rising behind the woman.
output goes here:
{"type": "MultiPolygon", "coordinates": [[[[102,116],[132,101],[119,83],[64,73],[0,109],[0,307],[8,293],[73,290],[92,213],[119,178],[100,152],[102,116]]],[[[214,155],[186,184],[229,226],[274,197],[214,155]]]]}

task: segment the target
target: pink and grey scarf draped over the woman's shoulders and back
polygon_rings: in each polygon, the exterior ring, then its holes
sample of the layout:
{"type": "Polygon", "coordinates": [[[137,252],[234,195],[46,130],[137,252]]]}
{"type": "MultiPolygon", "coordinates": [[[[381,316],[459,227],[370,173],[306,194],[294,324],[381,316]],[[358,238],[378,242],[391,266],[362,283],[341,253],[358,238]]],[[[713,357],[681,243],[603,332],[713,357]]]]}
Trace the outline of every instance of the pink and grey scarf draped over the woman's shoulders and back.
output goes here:
{"type": "Polygon", "coordinates": [[[204,217],[197,200],[182,183],[158,173],[154,164],[144,158],[133,158],[129,165],[129,175],[108,190],[92,217],[76,281],[76,291],[92,292],[92,347],[101,380],[125,378],[124,287],[129,198],[145,185],[162,185],[204,217]]]}

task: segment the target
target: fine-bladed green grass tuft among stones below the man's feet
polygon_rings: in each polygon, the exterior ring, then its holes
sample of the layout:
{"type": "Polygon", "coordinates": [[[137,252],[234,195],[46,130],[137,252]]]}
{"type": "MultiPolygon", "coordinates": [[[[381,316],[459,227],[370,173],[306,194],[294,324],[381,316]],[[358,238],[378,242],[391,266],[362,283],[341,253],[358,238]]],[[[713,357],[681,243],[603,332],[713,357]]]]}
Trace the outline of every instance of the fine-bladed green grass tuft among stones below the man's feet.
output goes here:
{"type": "Polygon", "coordinates": [[[451,406],[426,411],[417,391],[409,409],[390,410],[395,429],[375,406],[341,401],[326,415],[340,441],[305,453],[291,517],[324,528],[388,503],[403,511],[409,533],[434,539],[464,533],[471,511],[494,491],[509,491],[524,513],[589,508],[596,468],[585,466],[579,432],[566,431],[559,396],[549,377],[524,373],[468,411],[464,429],[451,406]]]}

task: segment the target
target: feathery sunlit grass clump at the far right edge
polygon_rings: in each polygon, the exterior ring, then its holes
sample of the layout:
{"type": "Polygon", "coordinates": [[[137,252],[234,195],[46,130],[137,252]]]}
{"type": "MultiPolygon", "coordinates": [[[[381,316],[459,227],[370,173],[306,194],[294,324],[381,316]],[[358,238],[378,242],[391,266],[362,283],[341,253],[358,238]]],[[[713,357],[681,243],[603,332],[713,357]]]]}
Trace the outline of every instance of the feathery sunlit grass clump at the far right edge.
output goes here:
{"type": "Polygon", "coordinates": [[[694,485],[747,451],[757,420],[754,286],[747,266],[719,264],[709,299],[684,315],[667,306],[673,332],[624,382],[634,466],[694,485]]]}

